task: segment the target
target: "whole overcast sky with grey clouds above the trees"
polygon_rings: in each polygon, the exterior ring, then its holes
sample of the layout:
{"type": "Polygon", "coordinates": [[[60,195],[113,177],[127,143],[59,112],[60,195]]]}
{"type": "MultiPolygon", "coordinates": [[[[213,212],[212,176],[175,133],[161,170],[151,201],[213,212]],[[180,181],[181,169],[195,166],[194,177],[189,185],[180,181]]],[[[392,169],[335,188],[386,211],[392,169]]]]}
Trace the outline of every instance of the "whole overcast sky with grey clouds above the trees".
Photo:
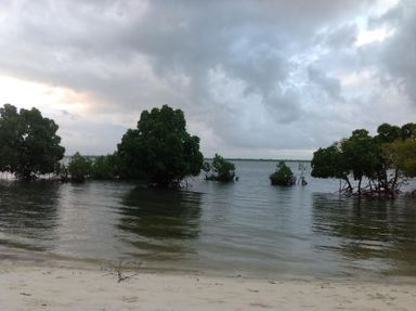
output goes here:
{"type": "Polygon", "coordinates": [[[0,38],[0,104],[54,119],[67,155],[165,104],[207,157],[310,159],[416,121],[413,0],[1,0],[0,38]]]}

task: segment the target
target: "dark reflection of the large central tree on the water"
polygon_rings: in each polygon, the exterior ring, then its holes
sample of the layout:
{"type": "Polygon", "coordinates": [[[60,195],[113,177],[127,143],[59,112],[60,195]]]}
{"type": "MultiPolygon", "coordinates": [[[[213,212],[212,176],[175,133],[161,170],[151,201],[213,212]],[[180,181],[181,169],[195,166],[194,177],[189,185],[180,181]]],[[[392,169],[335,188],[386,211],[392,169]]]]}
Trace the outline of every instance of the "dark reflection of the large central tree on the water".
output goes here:
{"type": "Polygon", "coordinates": [[[185,239],[198,236],[200,198],[197,192],[131,190],[119,208],[118,229],[130,233],[122,241],[134,246],[140,258],[171,260],[192,252],[185,239]]]}

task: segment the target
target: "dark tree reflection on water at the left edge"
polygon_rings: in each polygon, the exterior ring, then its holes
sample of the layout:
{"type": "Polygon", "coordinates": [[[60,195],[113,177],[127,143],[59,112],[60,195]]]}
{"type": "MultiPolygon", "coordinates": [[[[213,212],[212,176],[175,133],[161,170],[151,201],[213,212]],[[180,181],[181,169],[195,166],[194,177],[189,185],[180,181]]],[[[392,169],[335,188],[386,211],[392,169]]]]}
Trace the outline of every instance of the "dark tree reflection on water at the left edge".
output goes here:
{"type": "Polygon", "coordinates": [[[54,238],[58,190],[52,182],[1,182],[0,244],[47,249],[46,241],[54,238]]]}

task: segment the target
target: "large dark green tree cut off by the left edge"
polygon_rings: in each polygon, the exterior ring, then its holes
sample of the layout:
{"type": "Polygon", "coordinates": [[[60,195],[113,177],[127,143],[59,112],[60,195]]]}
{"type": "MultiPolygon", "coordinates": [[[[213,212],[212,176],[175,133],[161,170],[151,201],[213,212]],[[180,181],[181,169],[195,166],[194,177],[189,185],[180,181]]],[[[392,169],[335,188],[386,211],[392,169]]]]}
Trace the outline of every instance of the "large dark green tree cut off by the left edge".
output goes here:
{"type": "Polygon", "coordinates": [[[57,128],[36,108],[17,112],[5,104],[0,108],[0,170],[23,180],[53,172],[65,152],[57,128]]]}

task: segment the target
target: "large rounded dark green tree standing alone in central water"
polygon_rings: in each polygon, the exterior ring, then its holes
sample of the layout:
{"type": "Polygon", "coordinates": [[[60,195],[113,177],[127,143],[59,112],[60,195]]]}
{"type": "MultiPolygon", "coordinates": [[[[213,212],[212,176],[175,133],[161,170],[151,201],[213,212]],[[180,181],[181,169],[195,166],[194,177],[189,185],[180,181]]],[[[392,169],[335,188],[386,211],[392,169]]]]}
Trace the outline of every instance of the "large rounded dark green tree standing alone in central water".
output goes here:
{"type": "Polygon", "coordinates": [[[141,178],[151,184],[180,186],[188,176],[197,176],[204,157],[199,138],[190,135],[183,112],[164,105],[144,111],[136,129],[129,129],[118,144],[120,176],[141,178]]]}

